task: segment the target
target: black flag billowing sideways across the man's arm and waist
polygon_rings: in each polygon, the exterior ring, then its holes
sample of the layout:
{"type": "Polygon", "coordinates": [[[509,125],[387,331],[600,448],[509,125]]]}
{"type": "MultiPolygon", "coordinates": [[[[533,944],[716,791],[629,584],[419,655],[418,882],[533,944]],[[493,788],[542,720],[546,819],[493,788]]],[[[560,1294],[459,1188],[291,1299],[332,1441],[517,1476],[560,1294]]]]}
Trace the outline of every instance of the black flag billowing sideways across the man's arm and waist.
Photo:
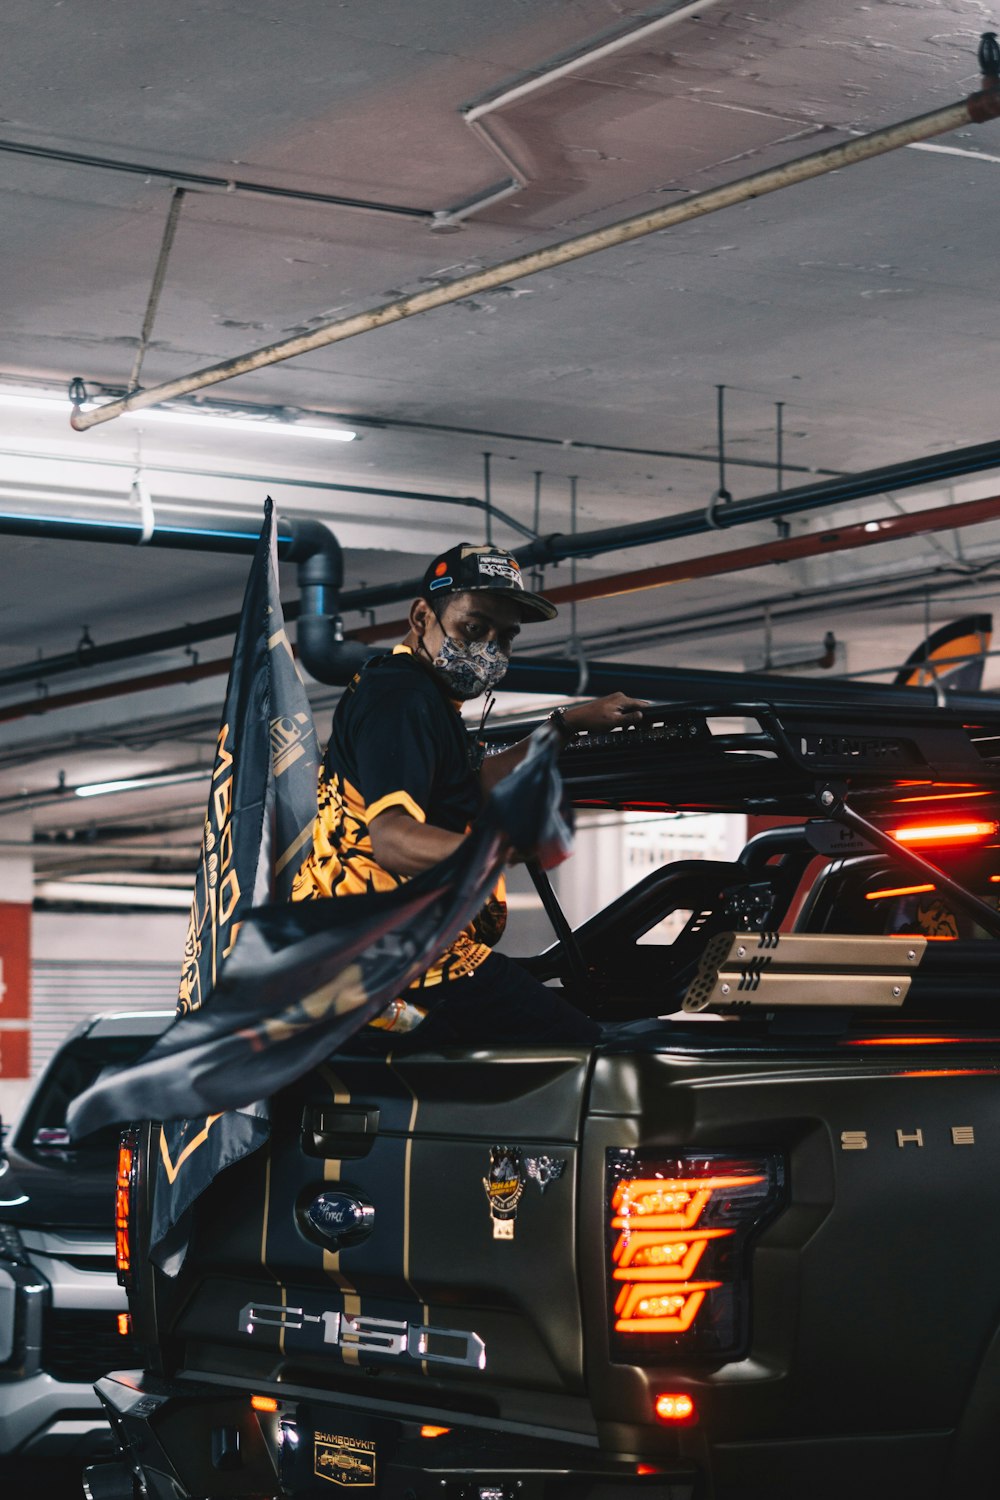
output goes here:
{"type": "MultiPolygon", "coordinates": [[[[213,1112],[274,1094],[322,1062],[447,948],[483,904],[511,849],[535,849],[546,866],[567,856],[558,752],[555,729],[535,730],[526,758],[493,790],[469,837],[405,885],[252,912],[210,1004],[178,1017],[138,1064],[87,1089],[70,1107],[70,1132],[121,1119],[198,1114],[211,1140],[229,1118],[213,1119],[213,1112]]],[[[195,1150],[193,1140],[186,1149],[195,1150]]],[[[189,1191],[186,1202],[193,1196],[189,1191]]],[[[159,1234],[177,1218],[175,1203],[166,1209],[159,1226],[154,1212],[159,1234]]]]}

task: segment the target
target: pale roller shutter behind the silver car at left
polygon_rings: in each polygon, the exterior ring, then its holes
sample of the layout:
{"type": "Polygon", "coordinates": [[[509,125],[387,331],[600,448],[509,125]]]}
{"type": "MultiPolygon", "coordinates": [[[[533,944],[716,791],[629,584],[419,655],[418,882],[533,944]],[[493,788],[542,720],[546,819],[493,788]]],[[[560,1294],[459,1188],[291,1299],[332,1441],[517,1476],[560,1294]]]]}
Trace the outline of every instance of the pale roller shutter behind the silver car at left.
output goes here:
{"type": "Polygon", "coordinates": [[[48,958],[31,964],[31,1077],[63,1036],[102,1011],[172,1011],[178,963],[48,958]]]}

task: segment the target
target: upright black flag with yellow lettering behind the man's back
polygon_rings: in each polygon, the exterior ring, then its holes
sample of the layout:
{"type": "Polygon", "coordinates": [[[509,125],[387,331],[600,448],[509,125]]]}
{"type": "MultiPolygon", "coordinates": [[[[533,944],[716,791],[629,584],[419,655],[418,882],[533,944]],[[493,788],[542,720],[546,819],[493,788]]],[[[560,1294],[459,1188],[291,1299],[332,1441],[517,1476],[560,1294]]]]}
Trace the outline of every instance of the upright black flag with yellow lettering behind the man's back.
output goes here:
{"type": "MultiPolygon", "coordinates": [[[[285,634],[268,498],[219,728],[184,942],[175,1023],[180,1029],[195,1023],[204,1004],[214,1004],[211,998],[237,951],[250,908],[291,894],[316,816],[316,774],[312,710],[285,634]]],[[[174,1110],[171,1116],[187,1113],[174,1110]]],[[[141,1100],[129,1114],[166,1118],[141,1100]]],[[[253,1098],[240,1100],[238,1110],[213,1119],[204,1113],[168,1119],[154,1180],[154,1246],[223,1167],[264,1144],[268,1128],[267,1104],[253,1098]]],[[[165,1266],[177,1269],[183,1239],[178,1233],[175,1244],[160,1252],[165,1266]]]]}

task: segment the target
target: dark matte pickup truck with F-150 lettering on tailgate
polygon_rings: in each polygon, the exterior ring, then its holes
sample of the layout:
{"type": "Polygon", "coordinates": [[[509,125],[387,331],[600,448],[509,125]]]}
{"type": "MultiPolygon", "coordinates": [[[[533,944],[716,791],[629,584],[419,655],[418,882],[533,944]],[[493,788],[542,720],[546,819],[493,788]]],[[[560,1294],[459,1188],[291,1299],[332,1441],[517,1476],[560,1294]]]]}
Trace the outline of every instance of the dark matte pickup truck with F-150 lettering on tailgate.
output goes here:
{"type": "Polygon", "coordinates": [[[757,831],[576,932],[540,876],[603,1041],[331,1058],[174,1280],[133,1126],[91,1496],[1000,1492],[1000,711],[654,708],[561,766],[757,831]]]}

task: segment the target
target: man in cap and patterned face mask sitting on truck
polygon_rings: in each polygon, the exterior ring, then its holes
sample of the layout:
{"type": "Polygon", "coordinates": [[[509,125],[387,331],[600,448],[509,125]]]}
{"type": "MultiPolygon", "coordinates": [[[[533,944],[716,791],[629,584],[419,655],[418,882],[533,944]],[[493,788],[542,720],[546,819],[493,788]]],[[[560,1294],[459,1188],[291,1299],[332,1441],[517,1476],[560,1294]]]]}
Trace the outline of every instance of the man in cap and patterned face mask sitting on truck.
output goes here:
{"type": "MultiPolygon", "coordinates": [[[[483,759],[462,704],[499,684],[522,624],[555,615],[547,598],[525,590],[517,560],[501,548],[460,543],[435,558],[409,608],[406,638],[367,662],[337,704],[313,848],[292,900],[388,891],[457,849],[484,795],[528,747],[522,741],[483,759]]],[[[552,718],[570,740],[582,729],[634,723],[640,708],[612,693],[552,718]]],[[[487,711],[489,698],[483,722],[487,711]]],[[[421,1047],[597,1035],[558,992],[490,951],[505,916],[501,880],[474,922],[375,1024],[418,1023],[421,1047]]]]}

